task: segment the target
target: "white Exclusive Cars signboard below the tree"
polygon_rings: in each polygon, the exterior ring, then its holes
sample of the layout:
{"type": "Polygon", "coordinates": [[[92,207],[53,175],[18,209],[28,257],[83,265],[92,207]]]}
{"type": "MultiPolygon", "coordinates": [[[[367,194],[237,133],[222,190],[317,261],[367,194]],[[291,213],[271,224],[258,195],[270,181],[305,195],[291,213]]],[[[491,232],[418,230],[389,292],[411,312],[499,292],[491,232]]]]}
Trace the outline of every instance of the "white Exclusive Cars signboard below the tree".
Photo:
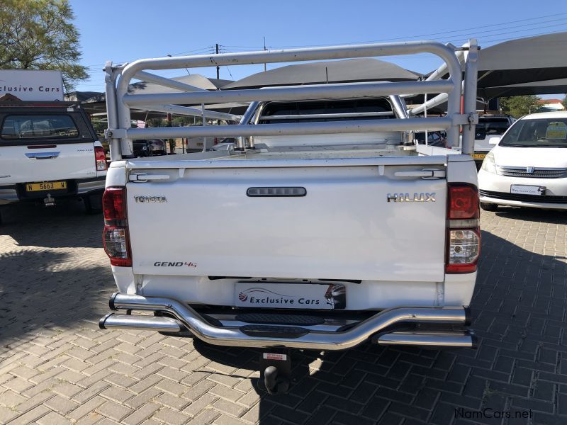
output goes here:
{"type": "Polygon", "coordinates": [[[61,71],[0,69],[0,97],[5,94],[21,101],[63,101],[61,71]]]}

